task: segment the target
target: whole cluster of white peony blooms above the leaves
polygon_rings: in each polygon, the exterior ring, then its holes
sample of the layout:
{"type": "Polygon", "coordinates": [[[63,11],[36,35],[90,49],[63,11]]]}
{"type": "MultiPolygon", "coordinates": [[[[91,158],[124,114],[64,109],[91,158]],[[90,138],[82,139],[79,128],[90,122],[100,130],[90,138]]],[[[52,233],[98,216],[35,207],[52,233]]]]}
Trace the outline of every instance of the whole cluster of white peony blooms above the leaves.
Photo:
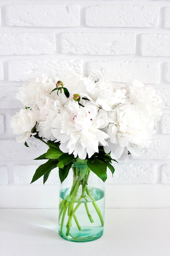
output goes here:
{"type": "Polygon", "coordinates": [[[141,149],[150,145],[162,102],[151,86],[138,81],[95,82],[78,76],[57,77],[55,82],[42,76],[20,88],[17,99],[26,109],[11,120],[18,142],[25,143],[38,134],[47,141],[59,142],[63,153],[73,153],[80,159],[98,153],[99,146],[113,159],[120,159],[128,152],[139,156],[141,149]],[[63,90],[51,92],[55,82],[61,80],[70,93],[68,98],[63,90]]]}

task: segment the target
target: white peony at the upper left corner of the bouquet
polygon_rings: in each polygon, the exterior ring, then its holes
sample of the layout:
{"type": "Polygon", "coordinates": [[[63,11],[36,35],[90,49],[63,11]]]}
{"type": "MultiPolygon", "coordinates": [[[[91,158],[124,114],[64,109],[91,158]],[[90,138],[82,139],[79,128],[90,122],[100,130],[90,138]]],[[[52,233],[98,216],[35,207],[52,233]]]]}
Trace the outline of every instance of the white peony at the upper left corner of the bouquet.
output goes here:
{"type": "Polygon", "coordinates": [[[43,96],[50,96],[51,91],[55,88],[55,83],[52,79],[43,75],[40,78],[31,79],[24,82],[19,92],[16,94],[24,106],[28,108],[35,108],[43,96]]]}

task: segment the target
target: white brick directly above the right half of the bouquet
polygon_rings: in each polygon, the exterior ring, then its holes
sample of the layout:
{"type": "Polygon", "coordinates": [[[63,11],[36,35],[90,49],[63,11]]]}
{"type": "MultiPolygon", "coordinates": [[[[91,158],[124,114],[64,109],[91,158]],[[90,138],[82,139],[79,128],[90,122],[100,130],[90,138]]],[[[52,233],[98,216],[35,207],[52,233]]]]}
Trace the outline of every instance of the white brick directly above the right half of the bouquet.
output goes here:
{"type": "Polygon", "coordinates": [[[160,64],[144,61],[90,61],[88,74],[95,79],[109,77],[115,82],[137,79],[143,83],[159,83],[160,64]]]}

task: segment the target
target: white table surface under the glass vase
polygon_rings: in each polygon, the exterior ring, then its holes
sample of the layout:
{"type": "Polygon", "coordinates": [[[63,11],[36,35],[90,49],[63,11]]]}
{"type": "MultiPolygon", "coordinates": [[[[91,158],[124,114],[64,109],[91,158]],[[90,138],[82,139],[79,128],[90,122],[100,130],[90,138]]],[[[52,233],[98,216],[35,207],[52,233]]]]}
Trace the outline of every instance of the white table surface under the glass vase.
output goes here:
{"type": "Polygon", "coordinates": [[[170,256],[170,209],[106,209],[101,238],[57,233],[57,209],[0,209],[0,256],[170,256]]]}

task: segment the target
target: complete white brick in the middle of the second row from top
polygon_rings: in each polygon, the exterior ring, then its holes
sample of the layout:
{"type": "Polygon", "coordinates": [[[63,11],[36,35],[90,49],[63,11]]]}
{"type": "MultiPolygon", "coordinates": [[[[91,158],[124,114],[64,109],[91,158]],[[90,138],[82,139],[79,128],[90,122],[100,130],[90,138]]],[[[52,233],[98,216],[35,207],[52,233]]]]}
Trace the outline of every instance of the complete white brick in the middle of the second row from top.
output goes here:
{"type": "Polygon", "coordinates": [[[64,54],[135,54],[135,43],[135,33],[62,33],[61,36],[64,54]]]}

